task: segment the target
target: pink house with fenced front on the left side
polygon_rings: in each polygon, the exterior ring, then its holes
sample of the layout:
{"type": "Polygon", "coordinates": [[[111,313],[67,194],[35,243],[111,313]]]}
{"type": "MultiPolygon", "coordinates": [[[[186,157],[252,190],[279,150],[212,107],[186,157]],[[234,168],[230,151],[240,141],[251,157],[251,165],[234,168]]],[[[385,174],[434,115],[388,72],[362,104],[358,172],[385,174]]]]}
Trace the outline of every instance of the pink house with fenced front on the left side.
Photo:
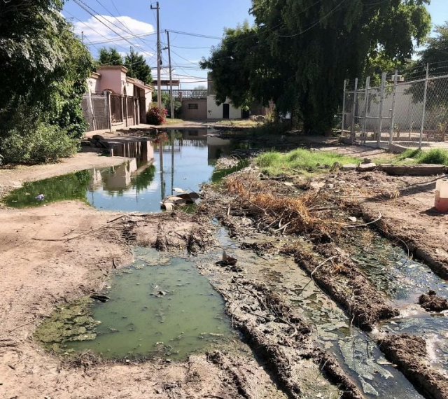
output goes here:
{"type": "Polygon", "coordinates": [[[115,131],[146,123],[151,106],[153,87],[127,76],[122,65],[102,65],[87,80],[88,90],[83,98],[83,115],[89,127],[115,131]]]}

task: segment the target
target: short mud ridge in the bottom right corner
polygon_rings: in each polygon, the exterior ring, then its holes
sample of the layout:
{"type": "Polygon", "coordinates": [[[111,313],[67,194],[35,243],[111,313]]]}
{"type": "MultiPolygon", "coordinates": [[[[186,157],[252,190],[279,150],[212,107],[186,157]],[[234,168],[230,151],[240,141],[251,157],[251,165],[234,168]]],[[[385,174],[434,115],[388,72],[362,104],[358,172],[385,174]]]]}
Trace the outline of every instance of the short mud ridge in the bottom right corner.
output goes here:
{"type": "Polygon", "coordinates": [[[414,335],[393,335],[379,341],[386,358],[400,367],[426,398],[447,399],[448,379],[428,366],[426,342],[414,335]]]}

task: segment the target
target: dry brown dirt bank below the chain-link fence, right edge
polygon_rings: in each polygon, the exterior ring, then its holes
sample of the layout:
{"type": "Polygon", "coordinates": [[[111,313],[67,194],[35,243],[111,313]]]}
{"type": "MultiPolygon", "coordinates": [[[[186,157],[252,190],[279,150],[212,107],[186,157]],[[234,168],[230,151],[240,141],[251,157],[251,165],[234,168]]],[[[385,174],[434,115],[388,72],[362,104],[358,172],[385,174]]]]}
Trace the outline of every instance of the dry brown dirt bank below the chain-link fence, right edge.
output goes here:
{"type": "Polygon", "coordinates": [[[382,172],[346,172],[337,176],[336,189],[355,206],[366,222],[397,241],[448,279],[448,214],[434,207],[434,177],[387,176],[382,172]],[[342,183],[341,183],[342,181],[342,183]],[[385,195],[386,193],[391,195],[385,195]]]}

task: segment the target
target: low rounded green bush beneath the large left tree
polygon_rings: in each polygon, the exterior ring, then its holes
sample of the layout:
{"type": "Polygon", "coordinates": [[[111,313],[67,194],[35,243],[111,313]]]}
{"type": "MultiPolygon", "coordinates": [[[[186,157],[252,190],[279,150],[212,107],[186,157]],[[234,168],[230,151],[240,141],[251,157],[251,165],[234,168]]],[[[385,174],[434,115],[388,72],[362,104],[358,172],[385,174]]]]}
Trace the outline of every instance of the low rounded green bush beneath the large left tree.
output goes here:
{"type": "Polygon", "coordinates": [[[40,123],[29,129],[15,128],[1,141],[4,162],[41,163],[69,157],[78,151],[78,141],[55,125],[40,123]]]}

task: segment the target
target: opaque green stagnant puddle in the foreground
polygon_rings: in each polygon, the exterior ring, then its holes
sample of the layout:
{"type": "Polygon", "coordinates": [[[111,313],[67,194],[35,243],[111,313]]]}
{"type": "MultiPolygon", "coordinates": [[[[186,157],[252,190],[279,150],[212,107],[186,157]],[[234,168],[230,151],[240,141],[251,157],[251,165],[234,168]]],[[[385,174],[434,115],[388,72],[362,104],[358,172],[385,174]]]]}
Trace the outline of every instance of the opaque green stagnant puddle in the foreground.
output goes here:
{"type": "Polygon", "coordinates": [[[92,323],[87,339],[63,342],[63,351],[183,359],[238,339],[221,295],[192,262],[160,258],[148,248],[137,248],[134,256],[133,265],[109,282],[104,294],[111,300],[92,306],[90,316],[99,323],[92,323]]]}

